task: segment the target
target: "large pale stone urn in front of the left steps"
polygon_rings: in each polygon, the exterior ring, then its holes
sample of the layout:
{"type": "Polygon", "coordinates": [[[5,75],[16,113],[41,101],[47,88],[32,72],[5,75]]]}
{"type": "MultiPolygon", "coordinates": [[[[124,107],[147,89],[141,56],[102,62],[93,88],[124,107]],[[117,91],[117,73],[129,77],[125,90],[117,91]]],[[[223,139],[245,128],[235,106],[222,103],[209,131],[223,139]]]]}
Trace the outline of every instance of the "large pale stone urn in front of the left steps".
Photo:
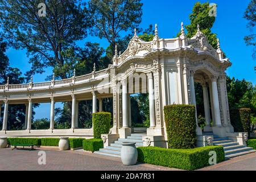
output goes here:
{"type": "Polygon", "coordinates": [[[121,148],[121,160],[123,165],[130,166],[137,163],[138,151],[133,142],[123,142],[121,148]]]}

